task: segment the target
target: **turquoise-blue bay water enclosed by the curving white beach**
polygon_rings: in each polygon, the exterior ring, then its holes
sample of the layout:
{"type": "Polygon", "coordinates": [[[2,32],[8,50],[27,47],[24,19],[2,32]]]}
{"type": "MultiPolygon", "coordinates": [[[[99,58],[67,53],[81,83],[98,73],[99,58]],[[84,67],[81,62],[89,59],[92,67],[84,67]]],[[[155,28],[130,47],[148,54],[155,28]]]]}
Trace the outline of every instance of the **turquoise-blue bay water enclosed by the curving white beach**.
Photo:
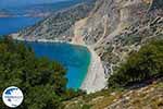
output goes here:
{"type": "Polygon", "coordinates": [[[90,63],[90,53],[86,47],[61,43],[27,43],[27,45],[34,49],[37,57],[57,60],[67,69],[67,87],[80,87],[90,63]]]}

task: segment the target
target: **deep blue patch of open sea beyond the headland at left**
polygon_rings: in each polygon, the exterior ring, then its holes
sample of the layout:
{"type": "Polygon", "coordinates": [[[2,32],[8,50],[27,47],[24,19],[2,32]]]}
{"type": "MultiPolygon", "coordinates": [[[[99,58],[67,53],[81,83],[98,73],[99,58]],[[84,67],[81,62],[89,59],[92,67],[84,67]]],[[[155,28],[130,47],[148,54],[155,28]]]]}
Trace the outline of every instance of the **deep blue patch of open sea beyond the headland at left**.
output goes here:
{"type": "Polygon", "coordinates": [[[16,33],[39,22],[41,17],[0,17],[0,35],[16,33]]]}

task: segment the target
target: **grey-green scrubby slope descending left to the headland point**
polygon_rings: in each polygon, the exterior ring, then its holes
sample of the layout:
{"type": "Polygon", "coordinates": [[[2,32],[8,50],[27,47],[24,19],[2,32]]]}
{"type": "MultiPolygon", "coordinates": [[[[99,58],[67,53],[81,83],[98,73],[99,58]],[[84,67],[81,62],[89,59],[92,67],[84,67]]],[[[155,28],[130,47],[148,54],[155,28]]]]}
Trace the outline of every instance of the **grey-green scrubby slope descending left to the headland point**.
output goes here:
{"type": "Polygon", "coordinates": [[[24,29],[20,33],[20,36],[28,39],[59,38],[61,40],[66,36],[66,40],[70,40],[70,37],[73,36],[74,23],[87,16],[91,8],[91,3],[84,2],[67,10],[62,10],[35,26],[24,29]]]}

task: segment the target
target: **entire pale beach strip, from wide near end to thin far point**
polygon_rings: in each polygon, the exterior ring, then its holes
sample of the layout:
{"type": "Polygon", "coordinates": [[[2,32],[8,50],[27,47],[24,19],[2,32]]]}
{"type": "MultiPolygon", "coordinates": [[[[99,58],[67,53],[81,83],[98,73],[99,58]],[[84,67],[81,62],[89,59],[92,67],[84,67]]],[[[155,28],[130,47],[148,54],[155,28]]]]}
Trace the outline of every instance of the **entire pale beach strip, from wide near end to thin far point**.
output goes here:
{"type": "Polygon", "coordinates": [[[36,43],[66,43],[76,46],[86,47],[90,52],[90,63],[88,65],[87,74],[79,87],[82,90],[86,90],[87,94],[96,93],[103,89],[106,86],[106,78],[104,74],[104,68],[102,65],[100,57],[96,53],[92,47],[87,46],[86,44],[78,44],[74,41],[63,41],[63,40],[53,40],[53,39],[24,39],[17,37],[18,34],[12,34],[11,37],[15,40],[21,41],[36,41],[36,43]]]}

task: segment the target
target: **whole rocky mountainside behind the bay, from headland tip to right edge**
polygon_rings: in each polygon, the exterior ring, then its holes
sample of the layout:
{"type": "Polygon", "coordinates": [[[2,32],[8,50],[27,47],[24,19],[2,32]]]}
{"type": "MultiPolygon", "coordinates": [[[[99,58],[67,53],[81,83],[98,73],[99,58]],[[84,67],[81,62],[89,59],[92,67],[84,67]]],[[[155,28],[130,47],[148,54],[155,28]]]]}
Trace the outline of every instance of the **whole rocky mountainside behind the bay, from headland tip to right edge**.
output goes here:
{"type": "Polygon", "coordinates": [[[18,37],[86,44],[100,57],[109,77],[133,50],[163,38],[162,8],[162,0],[96,0],[93,7],[59,12],[18,37]]]}

